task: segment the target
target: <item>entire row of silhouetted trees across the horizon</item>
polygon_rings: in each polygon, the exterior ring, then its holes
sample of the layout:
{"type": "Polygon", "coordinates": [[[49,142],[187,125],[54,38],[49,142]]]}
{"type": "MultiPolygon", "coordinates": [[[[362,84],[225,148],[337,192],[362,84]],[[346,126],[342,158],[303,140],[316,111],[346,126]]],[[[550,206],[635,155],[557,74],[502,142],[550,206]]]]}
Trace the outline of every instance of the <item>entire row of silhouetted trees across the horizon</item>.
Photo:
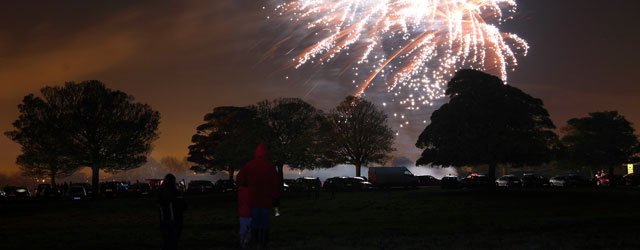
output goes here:
{"type": "MultiPolygon", "coordinates": [[[[629,121],[616,111],[574,118],[561,135],[540,99],[495,76],[461,70],[450,80],[448,102],[433,112],[416,146],[418,165],[535,166],[550,161],[610,172],[638,161],[640,143],[629,121]]],[[[17,164],[27,176],[55,179],[81,167],[119,172],[144,164],[158,138],[160,113],[99,81],[44,87],[18,105],[14,129],[5,135],[21,145],[17,164]]],[[[373,103],[349,96],[324,112],[298,98],[264,100],[246,107],[216,107],[204,115],[189,146],[197,172],[234,173],[267,144],[283,175],[293,169],[383,164],[394,133],[373,103]]]]}

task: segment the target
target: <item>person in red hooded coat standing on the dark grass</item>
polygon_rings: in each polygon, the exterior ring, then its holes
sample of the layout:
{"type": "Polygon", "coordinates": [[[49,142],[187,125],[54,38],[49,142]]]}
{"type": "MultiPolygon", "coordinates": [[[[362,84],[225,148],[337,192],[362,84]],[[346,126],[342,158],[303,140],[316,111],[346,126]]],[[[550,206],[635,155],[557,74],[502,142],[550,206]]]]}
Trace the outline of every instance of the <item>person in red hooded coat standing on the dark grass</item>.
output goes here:
{"type": "Polygon", "coordinates": [[[273,203],[280,198],[280,180],[275,166],[269,161],[264,144],[256,148],[255,158],[240,170],[238,187],[248,187],[251,206],[251,232],[262,247],[269,241],[269,216],[273,203]]]}

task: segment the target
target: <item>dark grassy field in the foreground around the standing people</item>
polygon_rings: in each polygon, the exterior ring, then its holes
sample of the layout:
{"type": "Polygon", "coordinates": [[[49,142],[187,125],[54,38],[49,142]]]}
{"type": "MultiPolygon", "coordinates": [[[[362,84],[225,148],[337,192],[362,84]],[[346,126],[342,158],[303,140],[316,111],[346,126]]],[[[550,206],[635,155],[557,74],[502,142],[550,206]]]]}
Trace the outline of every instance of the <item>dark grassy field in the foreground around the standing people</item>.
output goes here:
{"type": "MultiPolygon", "coordinates": [[[[640,190],[391,190],[286,197],[274,249],[640,249],[640,190]]],[[[237,242],[231,195],[189,198],[183,249],[237,242]]],[[[0,249],[159,249],[152,199],[0,205],[0,249]]]]}

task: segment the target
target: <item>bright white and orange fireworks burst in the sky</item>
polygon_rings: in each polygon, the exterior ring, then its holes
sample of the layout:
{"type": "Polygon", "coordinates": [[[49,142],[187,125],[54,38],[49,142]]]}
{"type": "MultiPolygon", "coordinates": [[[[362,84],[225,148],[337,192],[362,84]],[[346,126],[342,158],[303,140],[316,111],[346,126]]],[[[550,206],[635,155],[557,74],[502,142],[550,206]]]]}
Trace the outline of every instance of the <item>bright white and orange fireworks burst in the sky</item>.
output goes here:
{"type": "Polygon", "coordinates": [[[380,82],[391,99],[419,110],[444,96],[460,68],[506,81],[516,55],[528,50],[526,41],[497,26],[516,7],[515,0],[289,0],[275,11],[313,41],[298,50],[295,68],[347,58],[358,95],[380,82]]]}

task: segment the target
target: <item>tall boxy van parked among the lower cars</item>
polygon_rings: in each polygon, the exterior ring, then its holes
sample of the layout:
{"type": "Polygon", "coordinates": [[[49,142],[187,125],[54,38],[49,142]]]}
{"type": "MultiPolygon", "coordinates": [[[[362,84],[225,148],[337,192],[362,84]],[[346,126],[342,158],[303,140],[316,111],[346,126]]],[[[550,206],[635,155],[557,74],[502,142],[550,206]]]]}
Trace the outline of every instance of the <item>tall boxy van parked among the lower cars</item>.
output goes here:
{"type": "Polygon", "coordinates": [[[405,167],[369,168],[369,182],[376,187],[417,187],[418,177],[405,167]]]}

